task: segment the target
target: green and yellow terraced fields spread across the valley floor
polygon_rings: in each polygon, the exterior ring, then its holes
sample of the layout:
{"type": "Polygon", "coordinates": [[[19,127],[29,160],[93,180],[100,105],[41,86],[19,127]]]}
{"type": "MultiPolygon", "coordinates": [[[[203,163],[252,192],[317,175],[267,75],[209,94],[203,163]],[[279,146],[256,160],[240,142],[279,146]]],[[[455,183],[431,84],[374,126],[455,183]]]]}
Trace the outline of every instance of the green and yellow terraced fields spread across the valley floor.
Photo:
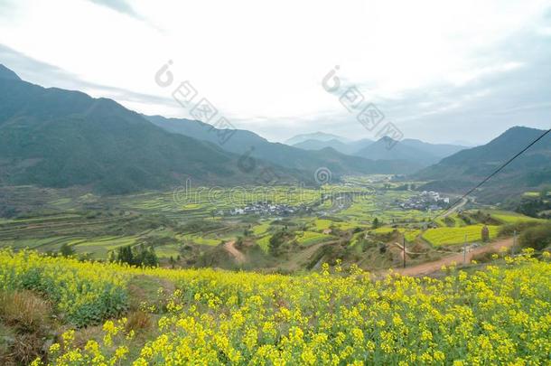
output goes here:
{"type": "MultiPolygon", "coordinates": [[[[352,182],[356,181],[326,185],[321,190],[270,187],[273,203],[310,207],[310,211],[291,218],[229,215],[232,209],[256,202],[259,195],[266,198],[266,191],[259,187],[247,187],[247,191],[219,189],[215,200],[209,190],[202,188],[103,198],[91,193],[67,195],[45,190],[41,200],[27,201],[29,207],[35,204],[50,213],[0,220],[0,247],[59,251],[63,244],[69,244],[77,254],[107,258],[119,247],[145,243],[154,245],[160,258],[170,258],[182,254],[185,245],[207,249],[248,236],[249,244],[256,243],[269,255],[269,241],[279,230],[289,230],[297,243],[308,247],[342,238],[351,239],[353,246],[366,231],[385,234],[396,228],[408,242],[430,243],[438,248],[461,244],[465,234],[469,242],[480,241],[482,223],[489,225],[490,237],[494,238],[500,225],[535,220],[509,211],[469,209],[439,218],[435,221],[437,228],[422,232],[437,212],[398,206],[417,192],[397,191],[397,183],[385,180],[352,182]],[[375,218],[383,226],[371,230],[375,218]],[[195,228],[193,222],[202,222],[204,228],[195,228]],[[331,233],[329,229],[333,229],[331,233]],[[353,235],[353,230],[361,234],[353,235]]],[[[37,193],[29,187],[13,190],[14,197],[22,200],[25,192],[37,193]]],[[[288,239],[288,243],[294,239],[288,239]]]]}

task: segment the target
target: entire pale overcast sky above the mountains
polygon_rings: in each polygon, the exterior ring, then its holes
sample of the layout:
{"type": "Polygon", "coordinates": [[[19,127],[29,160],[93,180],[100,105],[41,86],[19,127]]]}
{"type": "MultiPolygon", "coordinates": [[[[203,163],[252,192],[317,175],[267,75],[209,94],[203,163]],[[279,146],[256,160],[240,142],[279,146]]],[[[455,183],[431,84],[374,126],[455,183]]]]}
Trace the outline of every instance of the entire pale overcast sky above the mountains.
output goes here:
{"type": "Polygon", "coordinates": [[[0,63],[148,115],[189,118],[204,98],[271,141],[375,139],[390,122],[474,145],[551,127],[551,1],[0,0],[0,63]],[[377,128],[358,119],[369,105],[377,128]]]}

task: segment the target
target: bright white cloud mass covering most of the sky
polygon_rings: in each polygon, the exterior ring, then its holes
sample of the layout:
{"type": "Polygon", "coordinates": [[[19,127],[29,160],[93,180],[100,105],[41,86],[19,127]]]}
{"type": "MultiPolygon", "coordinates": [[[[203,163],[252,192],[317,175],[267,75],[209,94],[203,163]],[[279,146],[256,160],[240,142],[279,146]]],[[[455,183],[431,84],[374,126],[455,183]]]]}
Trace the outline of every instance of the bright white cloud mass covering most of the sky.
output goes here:
{"type": "MultiPolygon", "coordinates": [[[[294,129],[320,129],[316,121],[331,128],[332,118],[347,118],[320,85],[335,65],[373,99],[397,103],[412,91],[461,88],[528,67],[494,51],[517,33],[545,33],[549,8],[537,0],[96,3],[6,3],[0,43],[80,80],[160,98],[170,92],[154,83],[154,72],[173,60],[175,78],[190,80],[239,127],[281,139],[294,129]]],[[[83,89],[141,112],[187,116],[162,99],[145,103],[83,89]]],[[[434,113],[439,108],[445,109],[438,105],[434,113]]],[[[350,135],[361,129],[351,128],[350,135]]]]}

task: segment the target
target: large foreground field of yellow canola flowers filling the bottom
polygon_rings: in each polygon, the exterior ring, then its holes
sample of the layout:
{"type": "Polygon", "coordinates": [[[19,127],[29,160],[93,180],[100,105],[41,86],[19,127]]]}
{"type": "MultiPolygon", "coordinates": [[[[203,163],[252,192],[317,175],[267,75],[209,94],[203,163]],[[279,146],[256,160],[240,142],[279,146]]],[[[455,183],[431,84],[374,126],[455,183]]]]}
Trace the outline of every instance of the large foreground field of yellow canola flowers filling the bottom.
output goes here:
{"type": "MultiPolygon", "coordinates": [[[[135,334],[126,319],[107,320],[103,338],[84,346],[72,342],[70,331],[63,334],[51,346],[51,364],[525,365],[549,364],[551,357],[551,263],[530,253],[472,274],[379,280],[358,267],[282,276],[23,256],[44,267],[59,261],[61,273],[82,271],[80,278],[103,266],[90,274],[94,284],[122,286],[125,278],[151,276],[176,285],[158,335],[138,350],[131,352],[135,334]]],[[[3,267],[2,278],[17,284],[24,273],[3,267]]]]}

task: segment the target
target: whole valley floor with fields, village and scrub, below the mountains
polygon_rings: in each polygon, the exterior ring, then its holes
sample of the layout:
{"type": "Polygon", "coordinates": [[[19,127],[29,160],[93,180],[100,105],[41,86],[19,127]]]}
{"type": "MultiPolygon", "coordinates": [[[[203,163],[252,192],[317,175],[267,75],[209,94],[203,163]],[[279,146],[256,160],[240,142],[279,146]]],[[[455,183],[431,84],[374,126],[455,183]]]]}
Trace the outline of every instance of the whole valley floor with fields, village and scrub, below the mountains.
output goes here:
{"type": "Polygon", "coordinates": [[[504,228],[545,222],[472,200],[445,211],[457,196],[411,190],[422,185],[378,174],[318,188],[190,184],[123,196],[5,187],[3,196],[25,199],[11,202],[16,217],[0,221],[0,246],[101,261],[145,246],[163,267],[294,272],[339,259],[372,271],[401,267],[404,241],[409,266],[461,251],[464,243],[485,245],[484,227],[492,241],[508,237],[504,228]]]}

